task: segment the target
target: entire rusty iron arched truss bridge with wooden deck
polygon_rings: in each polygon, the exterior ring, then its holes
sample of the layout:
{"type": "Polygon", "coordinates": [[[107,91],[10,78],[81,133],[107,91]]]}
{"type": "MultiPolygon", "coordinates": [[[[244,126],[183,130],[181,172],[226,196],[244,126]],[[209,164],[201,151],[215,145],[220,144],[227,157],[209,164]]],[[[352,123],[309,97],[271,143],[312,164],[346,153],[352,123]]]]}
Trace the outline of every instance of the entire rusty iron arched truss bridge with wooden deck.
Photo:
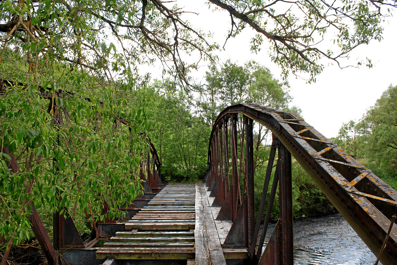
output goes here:
{"type": "MultiPolygon", "coordinates": [[[[44,92],[41,96],[52,98],[44,92]]],[[[62,120],[62,111],[67,120],[67,112],[60,108],[54,122],[62,120]]],[[[3,151],[7,153],[7,148],[3,151]]],[[[18,172],[9,155],[10,169],[18,172]]],[[[151,144],[140,174],[144,193],[120,209],[125,218],[93,222],[91,238],[85,242],[68,214],[65,219],[54,213],[53,242],[34,208],[29,220],[48,264],[292,265],[292,157],[376,256],[391,227],[380,261],[396,265],[397,225],[391,226],[390,219],[397,213],[397,192],[299,115],[260,104],[236,104],[219,114],[204,182],[165,185],[151,144]],[[256,220],[254,121],[266,126],[273,139],[256,220]],[[280,218],[264,242],[277,192],[280,218]],[[99,240],[106,243],[94,247],[99,240]]]]}

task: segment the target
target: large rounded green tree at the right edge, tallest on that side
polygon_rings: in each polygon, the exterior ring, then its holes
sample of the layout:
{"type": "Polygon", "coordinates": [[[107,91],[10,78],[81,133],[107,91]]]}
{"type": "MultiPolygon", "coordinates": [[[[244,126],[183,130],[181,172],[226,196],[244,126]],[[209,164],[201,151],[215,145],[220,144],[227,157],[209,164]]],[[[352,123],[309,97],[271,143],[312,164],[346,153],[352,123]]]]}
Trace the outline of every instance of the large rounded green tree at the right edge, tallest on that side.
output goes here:
{"type": "Polygon", "coordinates": [[[397,86],[389,86],[359,126],[368,137],[367,156],[381,172],[397,177],[397,86]]]}

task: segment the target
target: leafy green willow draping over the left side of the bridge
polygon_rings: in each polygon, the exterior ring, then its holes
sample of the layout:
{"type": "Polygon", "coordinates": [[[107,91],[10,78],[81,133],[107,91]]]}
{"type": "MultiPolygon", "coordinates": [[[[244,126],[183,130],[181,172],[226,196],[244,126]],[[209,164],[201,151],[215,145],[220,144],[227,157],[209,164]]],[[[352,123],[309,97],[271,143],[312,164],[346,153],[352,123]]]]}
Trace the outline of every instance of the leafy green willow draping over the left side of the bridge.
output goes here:
{"type": "Polygon", "coordinates": [[[0,245],[29,238],[32,206],[95,222],[106,202],[117,217],[154,128],[137,65],[160,60],[187,84],[182,54],[214,46],[159,1],[0,4],[0,245]]]}

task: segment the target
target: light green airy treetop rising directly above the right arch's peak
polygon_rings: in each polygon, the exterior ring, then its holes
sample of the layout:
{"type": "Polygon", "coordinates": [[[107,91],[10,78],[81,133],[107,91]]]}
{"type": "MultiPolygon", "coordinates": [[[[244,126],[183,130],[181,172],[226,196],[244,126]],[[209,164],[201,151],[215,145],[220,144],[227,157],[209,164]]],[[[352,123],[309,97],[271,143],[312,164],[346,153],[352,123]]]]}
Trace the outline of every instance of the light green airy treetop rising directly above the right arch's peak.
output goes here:
{"type": "MultiPolygon", "coordinates": [[[[221,110],[237,103],[259,103],[288,110],[292,99],[288,94],[288,82],[275,79],[268,68],[257,62],[250,61],[239,66],[227,60],[219,69],[210,66],[209,70],[206,72],[206,89],[200,92],[198,99],[198,112],[208,123],[214,124],[221,110]]],[[[298,108],[294,110],[300,112],[298,108]]],[[[255,168],[259,166],[257,170],[260,170],[267,161],[268,146],[263,141],[270,131],[261,124],[255,128],[258,128],[254,135],[255,168]]]]}

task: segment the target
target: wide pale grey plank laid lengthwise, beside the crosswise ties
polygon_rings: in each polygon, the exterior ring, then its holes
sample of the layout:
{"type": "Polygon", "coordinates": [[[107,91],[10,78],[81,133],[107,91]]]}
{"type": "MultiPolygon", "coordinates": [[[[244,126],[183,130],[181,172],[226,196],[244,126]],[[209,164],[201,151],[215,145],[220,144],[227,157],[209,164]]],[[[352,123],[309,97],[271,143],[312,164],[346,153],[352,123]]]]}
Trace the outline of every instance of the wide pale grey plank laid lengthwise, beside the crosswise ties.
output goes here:
{"type": "Polygon", "coordinates": [[[196,264],[226,265],[204,184],[196,183],[196,264]]]}

